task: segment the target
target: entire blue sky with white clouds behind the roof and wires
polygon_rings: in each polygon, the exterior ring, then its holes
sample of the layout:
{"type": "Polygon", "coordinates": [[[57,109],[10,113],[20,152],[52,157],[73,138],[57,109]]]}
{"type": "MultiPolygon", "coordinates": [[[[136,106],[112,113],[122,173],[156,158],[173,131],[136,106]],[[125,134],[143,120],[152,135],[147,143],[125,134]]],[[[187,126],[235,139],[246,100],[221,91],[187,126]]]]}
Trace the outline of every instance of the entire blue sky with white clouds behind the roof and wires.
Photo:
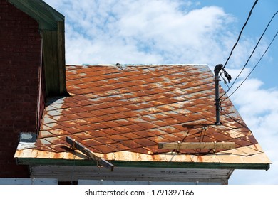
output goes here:
{"type": "MultiPolygon", "coordinates": [[[[66,16],[66,63],[225,63],[254,0],[45,0],[66,16]]],[[[277,0],[260,0],[225,68],[242,69],[277,0]]],[[[233,89],[278,31],[278,14],[233,89]]],[[[278,184],[278,36],[232,102],[272,161],[269,171],[235,171],[230,184],[278,184]]],[[[244,76],[245,75],[245,76],[244,76]]],[[[232,89],[232,90],[233,90],[232,89]]],[[[232,91],[231,90],[231,91],[232,91]]]]}

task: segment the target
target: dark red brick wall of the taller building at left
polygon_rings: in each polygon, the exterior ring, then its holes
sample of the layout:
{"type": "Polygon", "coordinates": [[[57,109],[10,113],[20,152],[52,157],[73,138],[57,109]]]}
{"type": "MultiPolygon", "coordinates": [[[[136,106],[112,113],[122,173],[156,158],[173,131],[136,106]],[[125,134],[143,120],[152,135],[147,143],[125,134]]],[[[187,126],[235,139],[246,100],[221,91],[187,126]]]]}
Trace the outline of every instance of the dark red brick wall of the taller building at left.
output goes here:
{"type": "Polygon", "coordinates": [[[19,132],[37,129],[40,66],[38,23],[0,0],[0,177],[29,177],[14,153],[19,132]]]}

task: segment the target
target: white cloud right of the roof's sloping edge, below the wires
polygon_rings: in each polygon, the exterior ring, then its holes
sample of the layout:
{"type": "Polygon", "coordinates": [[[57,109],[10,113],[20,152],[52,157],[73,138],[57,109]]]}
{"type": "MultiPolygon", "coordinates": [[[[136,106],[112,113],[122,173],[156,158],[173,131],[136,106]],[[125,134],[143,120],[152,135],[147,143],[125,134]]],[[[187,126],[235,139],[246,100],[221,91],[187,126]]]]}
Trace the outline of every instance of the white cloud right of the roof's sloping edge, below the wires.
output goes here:
{"type": "Polygon", "coordinates": [[[278,90],[262,89],[263,82],[250,79],[232,96],[232,102],[252,130],[272,165],[269,171],[235,171],[232,183],[277,184],[278,182],[278,90]],[[242,178],[244,176],[244,178],[242,178]]]}

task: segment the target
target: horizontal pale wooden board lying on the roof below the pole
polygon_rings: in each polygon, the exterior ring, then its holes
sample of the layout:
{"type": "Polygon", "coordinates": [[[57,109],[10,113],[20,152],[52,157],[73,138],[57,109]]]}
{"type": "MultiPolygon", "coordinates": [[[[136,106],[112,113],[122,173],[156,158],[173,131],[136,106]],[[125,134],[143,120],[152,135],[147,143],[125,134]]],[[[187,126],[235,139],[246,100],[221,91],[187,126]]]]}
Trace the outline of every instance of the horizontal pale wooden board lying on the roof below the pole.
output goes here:
{"type": "Polygon", "coordinates": [[[235,149],[235,142],[160,142],[158,149],[235,149]]]}

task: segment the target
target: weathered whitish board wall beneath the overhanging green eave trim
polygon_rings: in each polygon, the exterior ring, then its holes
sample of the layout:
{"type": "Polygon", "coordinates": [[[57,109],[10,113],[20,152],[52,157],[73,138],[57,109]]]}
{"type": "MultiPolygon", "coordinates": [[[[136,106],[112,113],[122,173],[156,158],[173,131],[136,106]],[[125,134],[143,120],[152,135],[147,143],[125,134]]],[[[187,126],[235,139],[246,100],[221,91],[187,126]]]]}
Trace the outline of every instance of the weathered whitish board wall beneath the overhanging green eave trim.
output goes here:
{"type": "Polygon", "coordinates": [[[32,178],[56,178],[58,183],[78,182],[78,184],[227,184],[233,169],[209,168],[144,168],[96,166],[31,166],[32,178]]]}

